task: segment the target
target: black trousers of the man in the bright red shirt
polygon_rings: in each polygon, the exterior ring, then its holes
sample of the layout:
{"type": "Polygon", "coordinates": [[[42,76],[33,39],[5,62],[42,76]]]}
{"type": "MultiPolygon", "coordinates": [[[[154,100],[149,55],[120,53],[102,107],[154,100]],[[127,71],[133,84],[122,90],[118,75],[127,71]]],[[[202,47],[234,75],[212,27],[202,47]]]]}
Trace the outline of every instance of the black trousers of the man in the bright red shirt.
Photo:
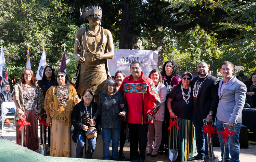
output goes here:
{"type": "Polygon", "coordinates": [[[128,127],[130,133],[130,157],[138,156],[138,159],[145,160],[149,124],[128,123],[128,127]],[[138,144],[140,153],[138,152],[138,144]]]}

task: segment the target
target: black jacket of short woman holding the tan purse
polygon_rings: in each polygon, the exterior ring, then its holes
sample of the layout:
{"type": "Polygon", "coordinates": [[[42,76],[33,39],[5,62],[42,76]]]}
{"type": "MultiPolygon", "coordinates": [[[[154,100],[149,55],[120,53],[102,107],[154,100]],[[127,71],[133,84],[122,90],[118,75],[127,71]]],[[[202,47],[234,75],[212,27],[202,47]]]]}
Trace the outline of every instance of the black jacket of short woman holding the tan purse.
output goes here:
{"type": "MultiPolygon", "coordinates": [[[[78,134],[83,130],[84,124],[82,124],[82,111],[84,106],[84,100],[82,99],[78,104],[75,105],[72,113],[71,113],[71,124],[75,127],[72,135],[72,140],[74,143],[76,143],[78,134]]],[[[92,107],[92,116],[94,116],[95,112],[98,109],[98,105],[95,102],[91,102],[92,107]]],[[[97,129],[97,132],[99,132],[99,124],[100,124],[100,116],[94,120],[94,123],[96,123],[95,128],[97,129]]],[[[89,126],[89,123],[88,125],[89,126]]]]}

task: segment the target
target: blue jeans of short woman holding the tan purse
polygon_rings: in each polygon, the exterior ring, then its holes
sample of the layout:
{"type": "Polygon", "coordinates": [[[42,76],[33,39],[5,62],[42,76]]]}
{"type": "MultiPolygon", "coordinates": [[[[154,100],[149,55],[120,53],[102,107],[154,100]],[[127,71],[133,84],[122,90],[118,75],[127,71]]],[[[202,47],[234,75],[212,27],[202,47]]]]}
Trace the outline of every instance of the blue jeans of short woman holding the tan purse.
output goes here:
{"type": "MultiPolygon", "coordinates": [[[[77,136],[77,146],[76,146],[76,158],[83,157],[83,150],[85,147],[86,135],[80,132],[77,136]]],[[[86,151],[86,158],[92,158],[92,153],[96,147],[96,137],[88,139],[88,150],[86,151]]]]}

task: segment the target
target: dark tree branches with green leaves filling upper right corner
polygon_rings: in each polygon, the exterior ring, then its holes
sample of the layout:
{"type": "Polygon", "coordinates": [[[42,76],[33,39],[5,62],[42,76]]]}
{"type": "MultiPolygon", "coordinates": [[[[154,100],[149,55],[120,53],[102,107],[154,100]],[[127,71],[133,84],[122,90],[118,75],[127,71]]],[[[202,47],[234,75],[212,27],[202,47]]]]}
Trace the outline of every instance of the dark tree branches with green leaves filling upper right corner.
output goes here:
{"type": "Polygon", "coordinates": [[[199,25],[216,33],[223,58],[245,68],[256,65],[256,1],[164,0],[172,10],[171,29],[185,32],[199,25]]]}

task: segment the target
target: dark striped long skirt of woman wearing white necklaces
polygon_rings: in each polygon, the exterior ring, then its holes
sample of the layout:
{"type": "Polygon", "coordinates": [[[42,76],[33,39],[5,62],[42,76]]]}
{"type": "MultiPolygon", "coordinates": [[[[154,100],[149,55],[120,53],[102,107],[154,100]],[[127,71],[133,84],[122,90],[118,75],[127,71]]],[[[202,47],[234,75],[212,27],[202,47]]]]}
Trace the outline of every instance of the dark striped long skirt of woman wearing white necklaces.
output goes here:
{"type": "MultiPolygon", "coordinates": [[[[174,148],[178,149],[178,158],[180,161],[187,161],[189,158],[194,157],[196,150],[195,144],[195,128],[192,120],[181,119],[177,117],[177,125],[180,127],[174,129],[174,148]]],[[[172,149],[172,131],[169,133],[169,149],[172,149]]]]}

